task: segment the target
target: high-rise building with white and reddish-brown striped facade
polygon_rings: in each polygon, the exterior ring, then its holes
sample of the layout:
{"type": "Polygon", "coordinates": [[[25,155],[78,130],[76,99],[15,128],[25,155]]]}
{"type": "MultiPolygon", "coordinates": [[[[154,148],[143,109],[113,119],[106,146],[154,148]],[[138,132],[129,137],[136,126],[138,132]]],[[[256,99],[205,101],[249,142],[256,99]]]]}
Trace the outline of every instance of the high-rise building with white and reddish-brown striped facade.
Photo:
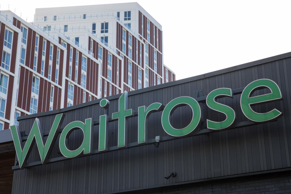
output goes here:
{"type": "Polygon", "coordinates": [[[138,3],[0,11],[0,130],[56,110],[175,80],[162,26],[138,3]]]}

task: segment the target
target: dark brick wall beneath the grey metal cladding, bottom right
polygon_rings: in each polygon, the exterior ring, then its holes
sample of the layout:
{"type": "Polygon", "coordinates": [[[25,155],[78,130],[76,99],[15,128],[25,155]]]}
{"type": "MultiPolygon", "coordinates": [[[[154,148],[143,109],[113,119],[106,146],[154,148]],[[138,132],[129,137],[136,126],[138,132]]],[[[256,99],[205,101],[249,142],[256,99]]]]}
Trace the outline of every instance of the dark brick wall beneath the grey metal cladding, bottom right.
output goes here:
{"type": "Polygon", "coordinates": [[[192,183],[184,186],[170,186],[163,189],[159,189],[159,191],[156,190],[150,193],[151,194],[291,193],[291,172],[286,171],[231,179],[220,179],[215,181],[207,181],[203,183],[192,183]]]}

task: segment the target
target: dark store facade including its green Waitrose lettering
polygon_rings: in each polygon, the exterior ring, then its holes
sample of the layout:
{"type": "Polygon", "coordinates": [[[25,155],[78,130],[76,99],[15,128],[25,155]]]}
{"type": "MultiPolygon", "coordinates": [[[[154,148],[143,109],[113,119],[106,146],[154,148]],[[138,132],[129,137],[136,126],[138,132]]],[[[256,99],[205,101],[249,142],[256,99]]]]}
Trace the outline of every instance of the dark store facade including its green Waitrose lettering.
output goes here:
{"type": "Polygon", "coordinates": [[[290,192],[290,73],[286,53],[19,117],[12,193],[290,192]]]}

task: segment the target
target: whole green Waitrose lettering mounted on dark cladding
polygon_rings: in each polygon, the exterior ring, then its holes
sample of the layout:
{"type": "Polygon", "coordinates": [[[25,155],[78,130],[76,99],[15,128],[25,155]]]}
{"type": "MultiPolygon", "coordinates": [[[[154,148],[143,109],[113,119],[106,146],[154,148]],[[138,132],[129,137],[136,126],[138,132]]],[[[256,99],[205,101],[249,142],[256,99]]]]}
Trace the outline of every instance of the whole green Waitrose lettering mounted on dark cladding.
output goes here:
{"type": "MultiPolygon", "coordinates": [[[[232,89],[230,88],[218,88],[216,90],[211,91],[206,97],[207,106],[215,111],[221,112],[226,115],[226,119],[221,122],[215,122],[207,119],[207,128],[211,130],[222,130],[231,127],[234,124],[236,119],[235,111],[224,104],[220,104],[216,102],[216,98],[219,97],[232,97],[232,89]]],[[[266,113],[257,113],[252,108],[251,105],[261,104],[265,102],[270,102],[273,100],[282,99],[281,91],[278,85],[269,79],[259,79],[249,83],[243,90],[240,99],[240,106],[243,114],[249,119],[257,123],[266,122],[270,120],[274,120],[279,117],[282,113],[273,109],[266,113]],[[251,97],[255,90],[261,88],[269,88],[271,91],[269,94],[259,95],[251,97]]],[[[100,106],[103,108],[107,108],[110,102],[106,99],[102,99],[100,101],[100,106]]],[[[143,144],[147,142],[147,125],[146,120],[149,115],[155,111],[161,111],[162,117],[162,127],[166,133],[171,136],[181,137],[186,136],[188,134],[194,133],[198,130],[199,123],[201,120],[201,110],[199,103],[192,97],[182,96],[177,97],[171,100],[165,107],[161,103],[153,103],[148,107],[141,106],[138,107],[138,144],[143,144]],[[192,109],[192,120],[189,125],[182,129],[174,128],[170,123],[170,116],[173,111],[179,106],[188,105],[192,109]]],[[[132,116],[132,109],[128,109],[127,105],[127,92],[124,92],[119,98],[119,110],[116,113],[112,113],[112,120],[118,121],[118,148],[124,148],[128,146],[127,141],[127,117],[132,116]]],[[[28,135],[25,145],[22,145],[22,139],[20,136],[20,131],[17,125],[11,126],[11,133],[15,145],[16,154],[18,157],[18,162],[20,168],[23,168],[26,160],[29,156],[29,153],[33,147],[33,144],[36,142],[39,155],[42,161],[42,164],[46,163],[49,154],[52,150],[53,144],[59,134],[60,125],[64,118],[64,114],[58,114],[55,117],[55,120],[52,124],[52,128],[49,132],[48,138],[43,143],[43,132],[41,129],[40,122],[38,118],[35,118],[32,129],[28,135]]],[[[99,152],[108,151],[108,119],[109,115],[101,115],[99,119],[99,152]]],[[[69,123],[62,130],[59,139],[59,149],[63,156],[66,158],[75,158],[80,155],[90,154],[92,153],[92,143],[93,143],[93,122],[92,118],[88,118],[85,120],[85,123],[81,121],[73,121],[69,123]],[[70,150],[68,148],[68,138],[69,134],[75,130],[81,129],[84,134],[84,140],[82,144],[76,150],[70,150]]]]}

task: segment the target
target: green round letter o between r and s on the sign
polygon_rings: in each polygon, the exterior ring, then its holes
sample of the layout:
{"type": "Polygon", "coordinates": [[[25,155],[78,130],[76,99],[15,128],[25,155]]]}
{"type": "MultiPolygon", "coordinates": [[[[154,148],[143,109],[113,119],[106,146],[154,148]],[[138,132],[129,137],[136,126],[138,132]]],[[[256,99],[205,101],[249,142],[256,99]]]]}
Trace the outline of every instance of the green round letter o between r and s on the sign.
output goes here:
{"type": "Polygon", "coordinates": [[[162,127],[164,128],[166,133],[168,133],[171,136],[176,136],[176,137],[184,136],[191,132],[194,132],[197,129],[197,126],[200,122],[200,118],[201,118],[201,110],[200,110],[200,106],[198,102],[192,97],[182,96],[182,97],[178,97],[171,100],[166,105],[162,113],[162,127]],[[173,111],[177,107],[183,106],[185,104],[189,105],[192,109],[192,113],[193,113],[192,120],[187,127],[183,129],[175,129],[174,127],[172,127],[169,117],[172,115],[173,111]]]}

